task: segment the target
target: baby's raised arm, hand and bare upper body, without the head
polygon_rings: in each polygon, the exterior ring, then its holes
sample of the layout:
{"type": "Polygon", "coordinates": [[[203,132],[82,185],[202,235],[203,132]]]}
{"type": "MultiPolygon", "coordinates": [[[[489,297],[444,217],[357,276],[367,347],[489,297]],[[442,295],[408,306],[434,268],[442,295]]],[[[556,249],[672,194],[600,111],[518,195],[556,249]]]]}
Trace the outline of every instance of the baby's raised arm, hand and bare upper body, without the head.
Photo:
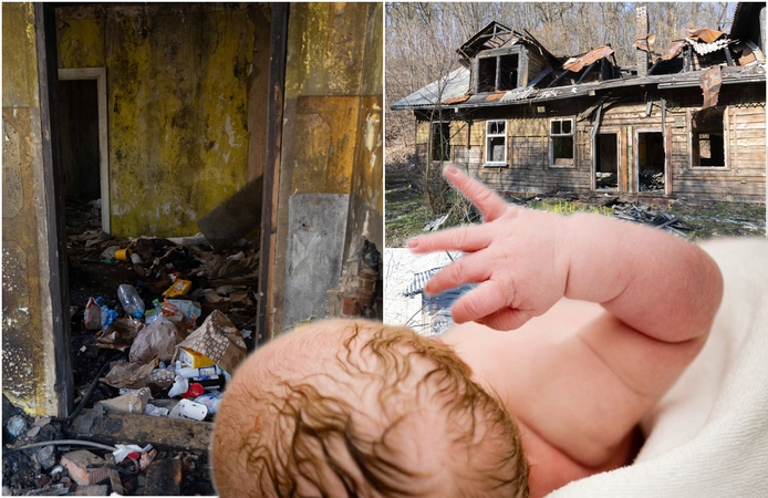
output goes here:
{"type": "Polygon", "coordinates": [[[466,252],[427,284],[435,293],[478,283],[454,305],[456,322],[517,329],[562,297],[606,310],[568,340],[523,352],[494,346],[506,343],[499,336],[485,353],[494,365],[522,365],[491,381],[519,421],[574,460],[604,464],[704,344],[723,292],[717,266],[661,230],[520,209],[456,168],[446,177],[486,222],[409,247],[466,252]]]}

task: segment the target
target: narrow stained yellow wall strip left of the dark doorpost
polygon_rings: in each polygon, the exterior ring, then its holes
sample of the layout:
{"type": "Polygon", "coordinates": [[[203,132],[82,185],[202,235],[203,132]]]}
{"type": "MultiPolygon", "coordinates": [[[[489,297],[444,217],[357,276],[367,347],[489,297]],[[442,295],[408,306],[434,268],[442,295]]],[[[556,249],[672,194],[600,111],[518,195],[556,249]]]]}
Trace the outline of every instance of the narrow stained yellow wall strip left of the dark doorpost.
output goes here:
{"type": "Polygon", "coordinates": [[[31,3],[2,4],[2,388],[31,415],[61,415],[31,3]]]}

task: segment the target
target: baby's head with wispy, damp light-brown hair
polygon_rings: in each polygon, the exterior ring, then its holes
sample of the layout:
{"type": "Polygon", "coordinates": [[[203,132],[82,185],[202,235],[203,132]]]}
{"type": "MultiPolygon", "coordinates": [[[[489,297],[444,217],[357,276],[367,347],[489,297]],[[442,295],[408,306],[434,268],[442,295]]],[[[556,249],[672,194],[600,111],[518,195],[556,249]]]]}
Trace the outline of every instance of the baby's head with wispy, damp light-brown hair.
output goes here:
{"type": "Polygon", "coordinates": [[[522,497],[517,427],[445,344],[316,322],[240,365],[216,417],[219,496],[522,497]]]}

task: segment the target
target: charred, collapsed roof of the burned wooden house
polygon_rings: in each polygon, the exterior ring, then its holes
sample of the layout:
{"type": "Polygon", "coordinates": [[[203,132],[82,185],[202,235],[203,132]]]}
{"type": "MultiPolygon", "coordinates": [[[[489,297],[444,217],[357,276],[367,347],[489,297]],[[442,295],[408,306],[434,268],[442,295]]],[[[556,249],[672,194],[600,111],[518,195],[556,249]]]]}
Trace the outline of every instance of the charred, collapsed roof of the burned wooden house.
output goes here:
{"type": "MultiPolygon", "coordinates": [[[[751,33],[754,37],[750,27],[755,24],[755,9],[744,6],[747,4],[739,3],[736,9],[731,31],[739,35],[751,33]]],[[[759,37],[759,29],[757,35],[759,37]]],[[[395,102],[391,108],[427,110],[439,105],[467,108],[521,104],[593,95],[596,90],[648,84],[657,85],[658,89],[699,87],[704,74],[712,68],[719,68],[723,85],[766,81],[765,55],[750,38],[736,38],[709,28],[687,30],[686,35],[675,40],[673,46],[663,54],[654,53],[652,48],[647,46],[648,41],[652,40],[642,40],[634,44],[637,50],[651,55],[647,73],[637,75],[636,68],[619,68],[615,64],[610,45],[598,46],[570,58],[556,58],[529,33],[520,34],[494,21],[457,50],[461,59],[460,68],[395,102]],[[471,59],[487,50],[512,48],[518,44],[526,45],[529,50],[536,48],[550,65],[525,86],[473,93],[471,59]],[[694,53],[698,66],[693,64],[694,53]],[[585,80],[595,68],[601,70],[592,73],[591,80],[585,80]]]]}

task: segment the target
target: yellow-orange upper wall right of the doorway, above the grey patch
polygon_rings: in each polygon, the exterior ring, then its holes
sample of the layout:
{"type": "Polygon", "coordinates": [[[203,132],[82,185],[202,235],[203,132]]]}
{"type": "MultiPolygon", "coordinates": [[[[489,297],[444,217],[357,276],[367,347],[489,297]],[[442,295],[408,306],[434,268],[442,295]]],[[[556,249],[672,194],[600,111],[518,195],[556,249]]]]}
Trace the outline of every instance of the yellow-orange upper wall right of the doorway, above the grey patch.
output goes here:
{"type": "Polygon", "coordinates": [[[382,37],[370,32],[377,29],[381,33],[380,8],[367,3],[291,4],[286,101],[287,108],[291,101],[295,103],[295,128],[301,137],[283,154],[302,159],[302,174],[292,177],[292,194],[350,194],[355,190],[353,169],[357,168],[357,193],[383,211],[378,185],[383,174],[382,37]],[[369,153],[357,155],[359,147],[369,153]]]}

